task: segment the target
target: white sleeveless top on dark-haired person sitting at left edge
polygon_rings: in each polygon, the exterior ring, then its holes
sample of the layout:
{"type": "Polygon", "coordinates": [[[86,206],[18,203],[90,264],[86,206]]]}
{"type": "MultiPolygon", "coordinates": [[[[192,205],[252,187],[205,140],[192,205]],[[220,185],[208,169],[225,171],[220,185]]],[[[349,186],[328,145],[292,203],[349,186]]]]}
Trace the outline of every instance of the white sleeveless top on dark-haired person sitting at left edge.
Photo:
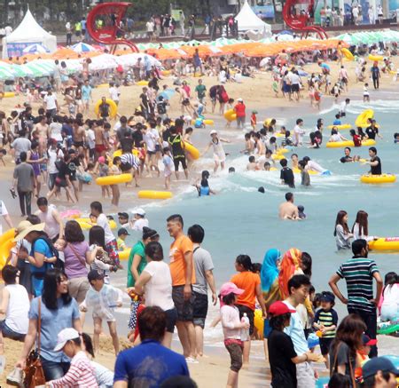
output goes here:
{"type": "Polygon", "coordinates": [[[13,331],[20,334],[27,334],[30,302],[27,296],[27,289],[20,284],[9,284],[5,289],[10,294],[7,312],[5,313],[5,324],[13,331]]]}

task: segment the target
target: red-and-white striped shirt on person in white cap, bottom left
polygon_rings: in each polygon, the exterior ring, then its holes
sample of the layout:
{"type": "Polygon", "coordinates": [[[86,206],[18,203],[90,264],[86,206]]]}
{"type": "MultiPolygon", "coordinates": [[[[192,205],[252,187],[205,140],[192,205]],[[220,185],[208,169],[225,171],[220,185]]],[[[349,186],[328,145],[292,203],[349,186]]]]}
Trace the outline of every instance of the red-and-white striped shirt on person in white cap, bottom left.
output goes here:
{"type": "Polygon", "coordinates": [[[98,388],[94,368],[83,351],[75,354],[65,376],[52,380],[48,384],[51,388],[98,388]]]}

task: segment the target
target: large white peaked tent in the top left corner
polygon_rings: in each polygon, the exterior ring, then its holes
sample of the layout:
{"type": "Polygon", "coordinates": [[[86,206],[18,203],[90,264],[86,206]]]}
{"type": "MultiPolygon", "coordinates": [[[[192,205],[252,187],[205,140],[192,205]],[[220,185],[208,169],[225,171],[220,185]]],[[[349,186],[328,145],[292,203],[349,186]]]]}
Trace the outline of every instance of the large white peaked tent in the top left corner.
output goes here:
{"type": "Polygon", "coordinates": [[[3,58],[21,56],[30,44],[42,44],[50,52],[57,50],[57,37],[41,28],[32,13],[27,10],[20,26],[3,38],[3,58]]]}

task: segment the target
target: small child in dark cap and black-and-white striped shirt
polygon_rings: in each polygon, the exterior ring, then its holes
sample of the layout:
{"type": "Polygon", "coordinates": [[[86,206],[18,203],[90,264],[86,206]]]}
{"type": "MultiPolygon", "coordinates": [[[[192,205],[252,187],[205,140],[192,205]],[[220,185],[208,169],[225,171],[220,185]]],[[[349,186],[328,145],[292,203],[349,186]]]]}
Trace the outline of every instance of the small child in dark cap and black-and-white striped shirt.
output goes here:
{"type": "Polygon", "coordinates": [[[313,327],[317,329],[317,335],[320,337],[320,350],[325,357],[325,367],[328,368],[328,353],[330,345],[335,338],[335,330],[338,326],[338,314],[332,308],[335,305],[335,297],[330,291],[322,292],[320,297],[320,309],[315,314],[313,327]]]}

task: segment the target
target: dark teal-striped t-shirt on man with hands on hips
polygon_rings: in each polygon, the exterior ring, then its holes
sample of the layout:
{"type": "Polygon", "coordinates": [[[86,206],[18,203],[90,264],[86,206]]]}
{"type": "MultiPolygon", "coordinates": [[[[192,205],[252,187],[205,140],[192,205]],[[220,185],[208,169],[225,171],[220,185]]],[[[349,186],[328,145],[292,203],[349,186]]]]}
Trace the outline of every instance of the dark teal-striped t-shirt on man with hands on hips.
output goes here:
{"type": "Polygon", "coordinates": [[[379,269],[374,260],[366,257],[349,258],[340,265],[337,274],[347,281],[348,309],[358,309],[364,312],[374,312],[372,278],[379,269]]]}

